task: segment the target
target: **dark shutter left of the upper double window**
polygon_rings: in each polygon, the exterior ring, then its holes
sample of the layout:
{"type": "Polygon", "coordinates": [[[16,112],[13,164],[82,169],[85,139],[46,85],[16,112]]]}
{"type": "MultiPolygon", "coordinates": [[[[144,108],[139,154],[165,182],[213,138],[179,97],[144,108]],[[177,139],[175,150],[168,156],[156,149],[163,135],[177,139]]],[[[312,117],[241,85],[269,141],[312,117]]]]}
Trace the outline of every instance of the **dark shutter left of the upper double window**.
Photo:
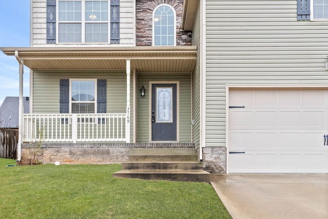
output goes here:
{"type": "Polygon", "coordinates": [[[56,0],[47,0],[47,43],[56,43],[56,0]]]}

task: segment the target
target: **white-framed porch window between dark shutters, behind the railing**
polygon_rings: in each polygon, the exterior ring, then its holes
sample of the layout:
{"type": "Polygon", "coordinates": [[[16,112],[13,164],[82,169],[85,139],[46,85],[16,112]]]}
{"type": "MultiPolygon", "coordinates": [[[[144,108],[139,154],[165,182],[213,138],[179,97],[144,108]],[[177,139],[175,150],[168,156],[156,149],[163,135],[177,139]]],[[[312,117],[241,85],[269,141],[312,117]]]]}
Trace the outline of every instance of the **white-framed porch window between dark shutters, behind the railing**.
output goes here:
{"type": "Polygon", "coordinates": [[[71,113],[91,114],[96,111],[96,79],[71,79],[71,113]]]}

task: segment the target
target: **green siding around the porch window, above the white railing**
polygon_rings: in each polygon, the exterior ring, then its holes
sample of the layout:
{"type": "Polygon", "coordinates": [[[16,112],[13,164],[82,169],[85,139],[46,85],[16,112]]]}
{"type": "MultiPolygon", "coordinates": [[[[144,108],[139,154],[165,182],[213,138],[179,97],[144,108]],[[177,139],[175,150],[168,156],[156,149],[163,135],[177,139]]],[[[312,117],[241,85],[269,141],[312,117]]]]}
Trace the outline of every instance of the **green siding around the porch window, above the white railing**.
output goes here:
{"type": "MultiPolygon", "coordinates": [[[[126,113],[126,70],[56,70],[33,71],[33,113],[59,114],[59,80],[97,78],[107,80],[107,113],[126,113]]],[[[131,73],[131,107],[133,106],[133,73],[131,73]]],[[[130,111],[130,140],[133,140],[133,111],[130,111]]]]}

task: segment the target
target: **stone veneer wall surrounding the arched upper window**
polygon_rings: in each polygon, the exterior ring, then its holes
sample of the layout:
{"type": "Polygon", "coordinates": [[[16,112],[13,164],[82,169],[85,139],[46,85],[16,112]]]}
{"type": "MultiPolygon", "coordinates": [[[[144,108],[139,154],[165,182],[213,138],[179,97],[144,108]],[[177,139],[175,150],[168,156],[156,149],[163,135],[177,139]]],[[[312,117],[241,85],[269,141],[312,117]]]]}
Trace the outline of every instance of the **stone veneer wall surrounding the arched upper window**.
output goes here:
{"type": "Polygon", "coordinates": [[[191,46],[191,31],[181,28],[183,0],[137,0],[136,1],[136,45],[153,44],[153,11],[160,4],[171,5],[176,12],[176,46],[191,46]]]}

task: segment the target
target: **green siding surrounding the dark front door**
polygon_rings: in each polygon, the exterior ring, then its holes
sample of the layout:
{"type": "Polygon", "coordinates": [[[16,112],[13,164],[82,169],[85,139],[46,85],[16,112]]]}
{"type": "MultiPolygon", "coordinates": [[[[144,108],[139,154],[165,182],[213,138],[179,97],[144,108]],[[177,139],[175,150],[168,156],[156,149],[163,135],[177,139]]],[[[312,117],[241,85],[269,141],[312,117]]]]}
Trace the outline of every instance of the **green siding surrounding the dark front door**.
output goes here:
{"type": "Polygon", "coordinates": [[[137,80],[137,142],[149,142],[149,81],[179,81],[180,142],[191,142],[191,74],[138,73],[137,80]],[[146,88],[144,97],[140,95],[142,84],[146,88]]]}

